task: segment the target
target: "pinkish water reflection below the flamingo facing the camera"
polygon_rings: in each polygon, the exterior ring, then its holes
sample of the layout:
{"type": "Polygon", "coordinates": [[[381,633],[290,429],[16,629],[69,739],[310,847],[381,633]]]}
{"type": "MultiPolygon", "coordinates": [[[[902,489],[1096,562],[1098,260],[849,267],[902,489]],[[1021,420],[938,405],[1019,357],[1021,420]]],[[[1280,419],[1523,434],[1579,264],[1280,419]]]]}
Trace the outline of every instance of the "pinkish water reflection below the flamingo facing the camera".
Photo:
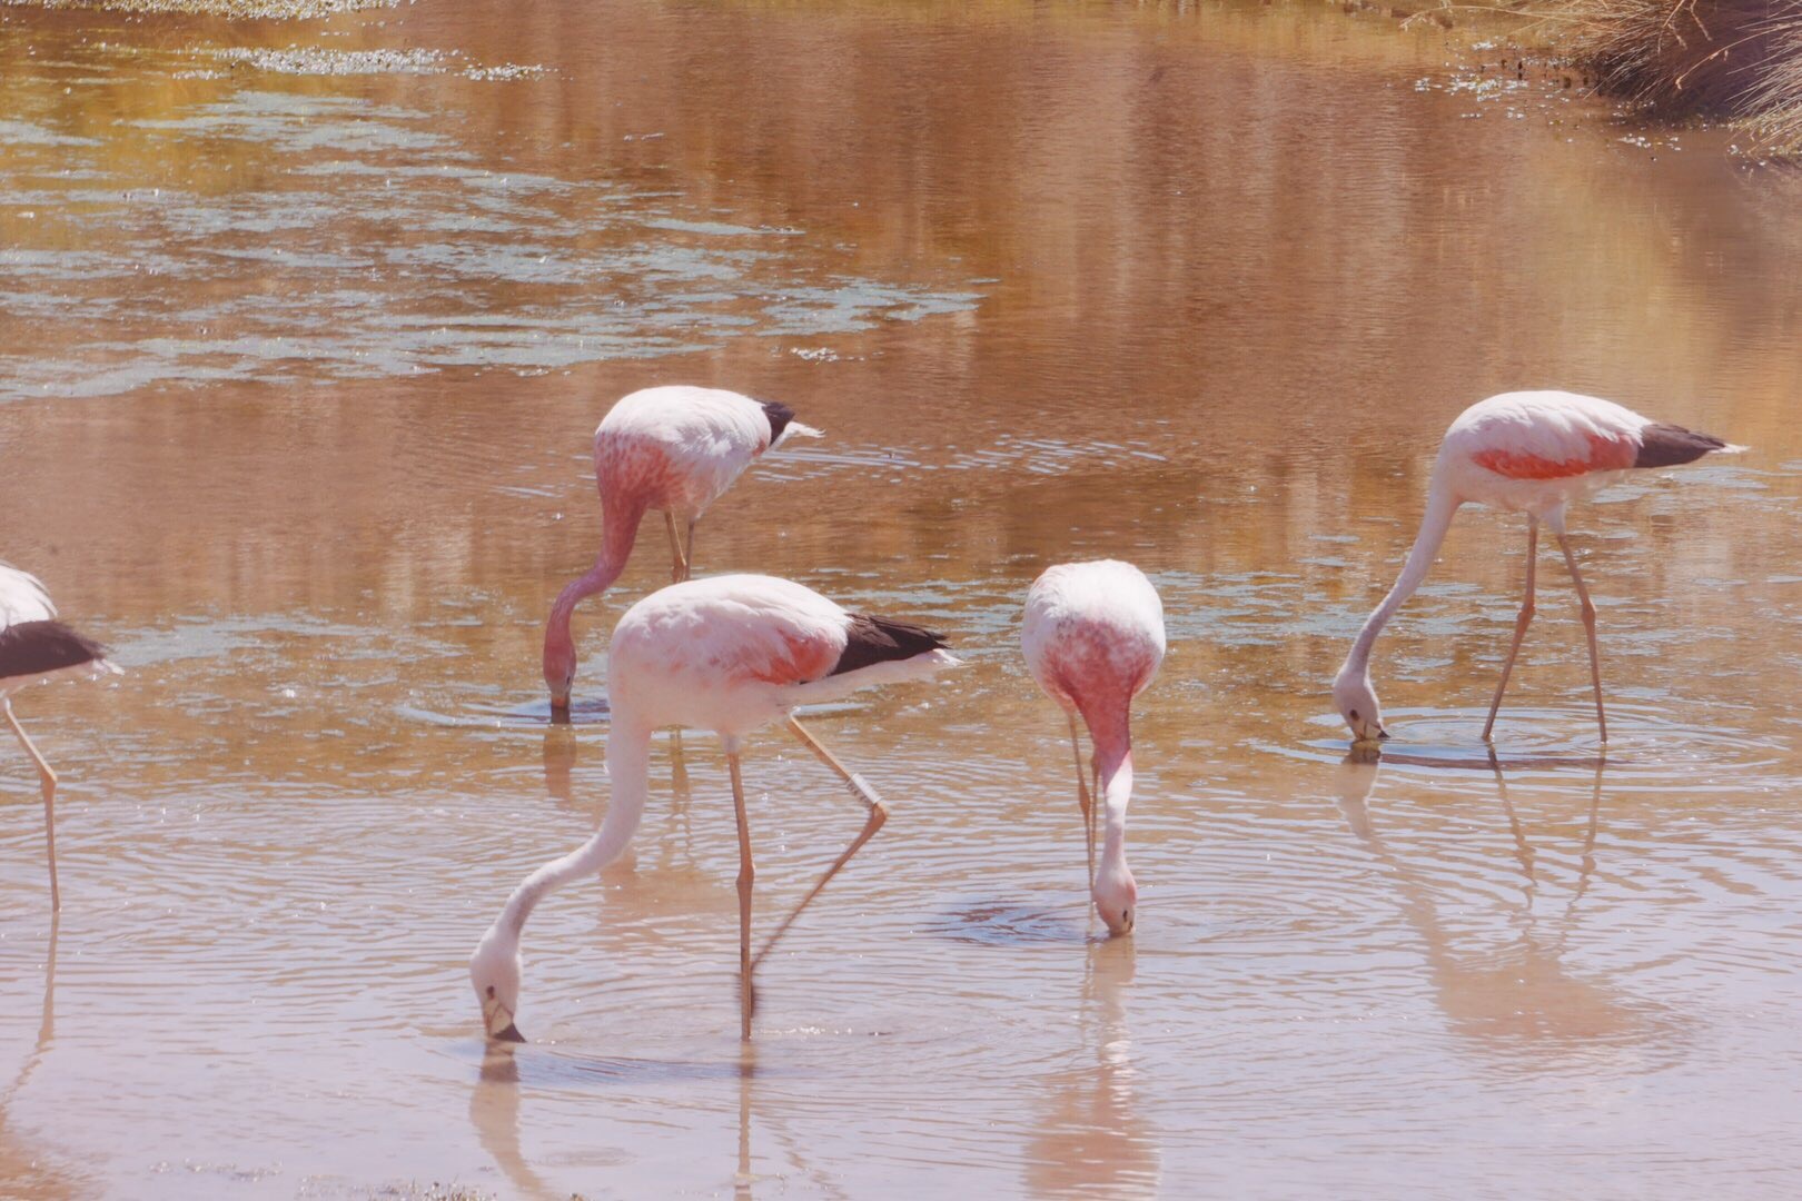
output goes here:
{"type": "Polygon", "coordinates": [[[1047,1073],[1042,1116],[1025,1151],[1033,1196],[1094,1194],[1155,1197],[1155,1127],[1133,1104],[1126,989],[1137,953],[1130,938],[1088,944],[1078,1062],[1047,1073]]]}

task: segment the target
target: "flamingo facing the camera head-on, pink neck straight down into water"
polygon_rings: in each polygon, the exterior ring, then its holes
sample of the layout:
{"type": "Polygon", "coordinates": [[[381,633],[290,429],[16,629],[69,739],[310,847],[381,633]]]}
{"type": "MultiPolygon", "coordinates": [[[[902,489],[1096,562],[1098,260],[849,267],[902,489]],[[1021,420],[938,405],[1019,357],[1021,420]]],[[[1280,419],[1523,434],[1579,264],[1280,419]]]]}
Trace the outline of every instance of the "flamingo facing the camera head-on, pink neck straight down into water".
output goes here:
{"type": "Polygon", "coordinates": [[[1164,661],[1164,605],[1151,582],[1132,564],[1058,564],[1047,567],[1025,594],[1020,645],[1033,679],[1070,720],[1076,803],[1088,844],[1088,893],[1108,933],[1126,935],[1139,902],[1139,886],[1126,866],[1132,699],[1151,682],[1164,661]],[[1078,713],[1096,744],[1096,794],[1108,810],[1099,871],[1078,713]]]}

